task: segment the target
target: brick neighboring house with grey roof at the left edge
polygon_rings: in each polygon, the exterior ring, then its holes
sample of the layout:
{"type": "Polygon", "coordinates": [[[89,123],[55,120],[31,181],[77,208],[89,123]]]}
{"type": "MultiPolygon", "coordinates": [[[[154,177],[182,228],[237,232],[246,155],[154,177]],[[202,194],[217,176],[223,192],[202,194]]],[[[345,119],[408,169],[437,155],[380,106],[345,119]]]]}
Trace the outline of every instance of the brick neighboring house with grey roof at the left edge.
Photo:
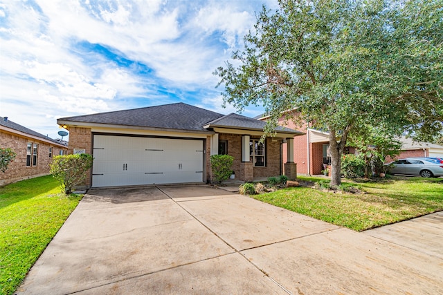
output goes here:
{"type": "Polygon", "coordinates": [[[45,135],[0,117],[0,148],[10,148],[17,155],[6,172],[0,171],[0,185],[49,174],[54,155],[68,148],[45,135]]]}

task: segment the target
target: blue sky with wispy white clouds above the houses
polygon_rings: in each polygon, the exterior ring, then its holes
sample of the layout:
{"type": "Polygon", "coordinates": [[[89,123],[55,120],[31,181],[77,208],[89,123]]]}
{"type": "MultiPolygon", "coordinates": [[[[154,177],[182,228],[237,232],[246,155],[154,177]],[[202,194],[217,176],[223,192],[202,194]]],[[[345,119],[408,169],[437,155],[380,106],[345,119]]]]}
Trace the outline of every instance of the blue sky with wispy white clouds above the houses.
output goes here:
{"type": "Polygon", "coordinates": [[[263,4],[278,8],[277,0],[0,0],[0,116],[55,139],[60,117],[176,102],[238,113],[222,108],[213,72],[242,48],[263,4]]]}

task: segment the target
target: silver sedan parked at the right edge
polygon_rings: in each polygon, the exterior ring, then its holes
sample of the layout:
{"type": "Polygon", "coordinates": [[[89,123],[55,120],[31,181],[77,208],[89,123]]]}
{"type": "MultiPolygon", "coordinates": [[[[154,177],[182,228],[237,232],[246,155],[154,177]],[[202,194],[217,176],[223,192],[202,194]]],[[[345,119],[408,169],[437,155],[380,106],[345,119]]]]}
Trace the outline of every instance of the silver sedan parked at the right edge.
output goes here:
{"type": "Polygon", "coordinates": [[[424,178],[443,176],[443,164],[423,158],[405,158],[385,164],[390,174],[420,175],[424,178]]]}

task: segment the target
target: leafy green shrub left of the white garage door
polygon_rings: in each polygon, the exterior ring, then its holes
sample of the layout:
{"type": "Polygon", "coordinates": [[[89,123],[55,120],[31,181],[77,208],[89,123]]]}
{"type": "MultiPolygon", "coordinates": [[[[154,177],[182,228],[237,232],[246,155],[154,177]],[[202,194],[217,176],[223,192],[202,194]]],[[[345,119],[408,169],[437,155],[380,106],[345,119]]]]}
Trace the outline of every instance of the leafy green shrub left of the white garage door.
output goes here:
{"type": "Polygon", "coordinates": [[[92,166],[92,155],[57,155],[51,166],[51,174],[60,182],[62,191],[68,195],[75,185],[82,184],[87,178],[86,171],[92,166]]]}

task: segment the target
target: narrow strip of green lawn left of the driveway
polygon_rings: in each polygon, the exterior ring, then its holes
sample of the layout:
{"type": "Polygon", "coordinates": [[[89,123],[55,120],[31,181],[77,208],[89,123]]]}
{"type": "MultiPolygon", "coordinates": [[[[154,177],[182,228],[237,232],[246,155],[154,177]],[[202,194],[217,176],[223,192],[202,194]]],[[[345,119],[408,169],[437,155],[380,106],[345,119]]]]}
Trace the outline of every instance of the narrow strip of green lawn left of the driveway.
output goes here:
{"type": "Polygon", "coordinates": [[[13,294],[82,196],[51,175],[0,187],[0,294],[13,294]]]}

